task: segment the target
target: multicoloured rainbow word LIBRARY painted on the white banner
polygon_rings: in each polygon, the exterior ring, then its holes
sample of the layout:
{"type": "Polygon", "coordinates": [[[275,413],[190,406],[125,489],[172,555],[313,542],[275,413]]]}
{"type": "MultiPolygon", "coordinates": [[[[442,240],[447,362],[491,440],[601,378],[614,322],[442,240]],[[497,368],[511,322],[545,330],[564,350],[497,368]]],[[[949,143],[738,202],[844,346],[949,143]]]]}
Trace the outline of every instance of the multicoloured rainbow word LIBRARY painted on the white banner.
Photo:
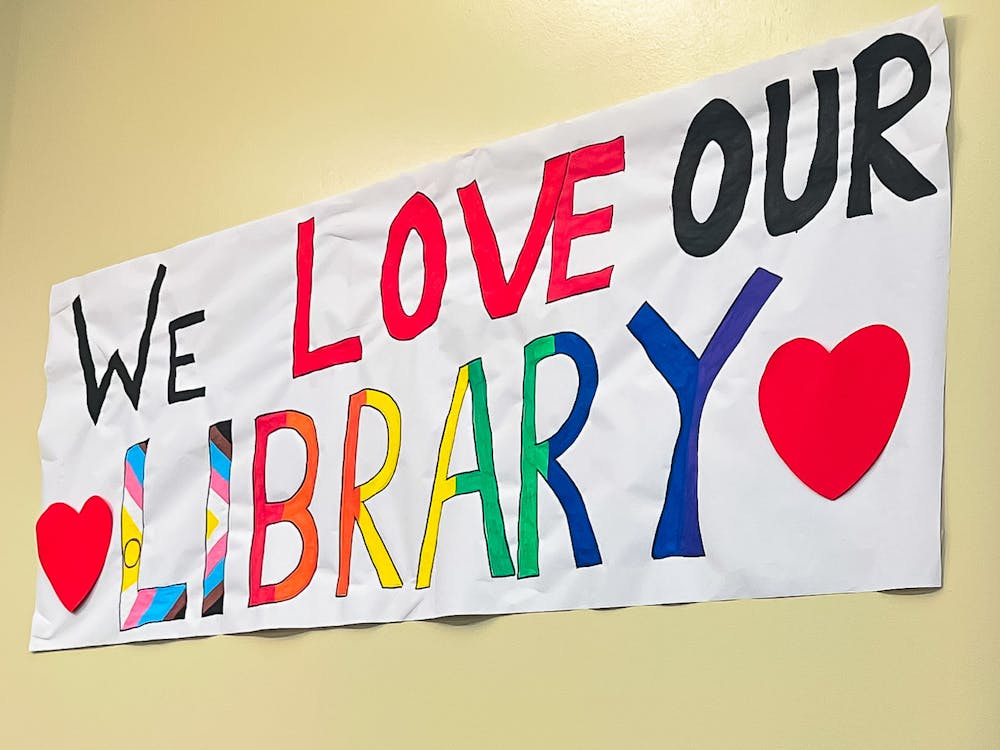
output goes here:
{"type": "MultiPolygon", "coordinates": [[[[680,407],[681,428],[671,460],[663,512],[657,524],[652,556],[696,557],[704,555],[698,522],[698,432],[705,400],[719,371],[739,344],[758,312],[781,279],[757,269],[722,316],[702,354],[696,355],[663,318],[648,304],[637,310],[627,325],[642,346],[652,366],[664,378],[680,407]]],[[[420,545],[416,587],[431,585],[442,514],[447,503],[462,495],[478,495],[486,555],[493,577],[529,578],[539,574],[538,482],[545,481],[565,516],[577,567],[603,562],[600,546],[583,494],[560,464],[560,457],[580,436],[597,392],[599,369],[590,344],[579,334],[557,332],[542,336],[524,347],[522,419],[520,444],[520,493],[517,518],[517,561],[511,556],[506,522],[500,505],[494,463],[494,443],[489,411],[489,388],[482,359],[458,368],[437,461],[429,488],[430,504],[420,545]],[[543,360],[568,357],[575,365],[577,388],[569,415],[550,437],[536,433],[536,372],[543,360]],[[471,399],[473,448],[476,468],[450,474],[459,415],[466,397],[471,399]]],[[[366,503],[392,481],[400,455],[402,418],[392,395],[373,388],[350,396],[342,460],[339,513],[339,571],[336,595],[348,594],[354,530],[360,531],[365,549],[383,588],[402,587],[394,558],[380,535],[366,503]],[[361,413],[374,410],[385,422],[386,454],[374,476],[359,483],[356,468],[360,442],[361,413]]],[[[253,534],[249,555],[249,606],[287,601],[312,581],[319,559],[321,535],[310,510],[319,467],[319,441],[313,418],[300,411],[262,414],[255,420],[252,462],[253,534]],[[304,450],[303,479],[291,497],[268,497],[265,476],[268,446],[278,432],[287,430],[301,440],[304,450]],[[277,523],[291,524],[301,541],[301,554],[282,580],[266,583],[263,568],[267,532],[277,523]]],[[[125,452],[124,492],[121,512],[122,630],[150,622],[183,619],[187,611],[187,585],[142,588],[139,585],[143,546],[143,509],[146,505],[146,458],[150,441],[132,445],[125,452]]],[[[232,422],[209,427],[209,481],[206,502],[205,564],[202,616],[219,615],[224,609],[224,582],[229,534],[230,479],[232,470],[232,422]]]]}

